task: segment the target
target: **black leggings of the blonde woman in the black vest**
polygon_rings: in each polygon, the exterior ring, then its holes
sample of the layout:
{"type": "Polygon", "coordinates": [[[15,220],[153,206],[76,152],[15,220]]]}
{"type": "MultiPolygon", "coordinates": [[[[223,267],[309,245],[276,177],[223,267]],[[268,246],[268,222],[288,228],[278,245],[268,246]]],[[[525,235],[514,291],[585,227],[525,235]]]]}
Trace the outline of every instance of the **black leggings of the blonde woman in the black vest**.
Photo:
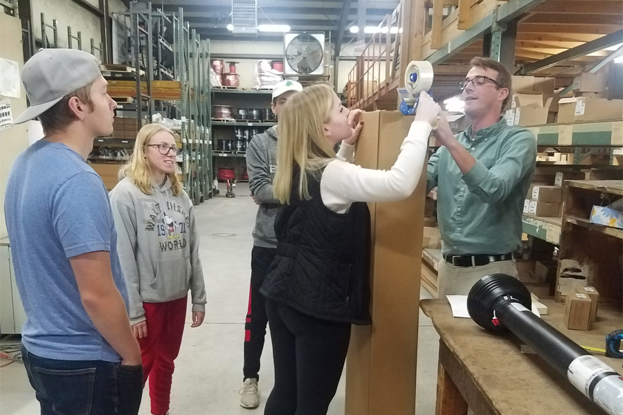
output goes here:
{"type": "Polygon", "coordinates": [[[326,415],[350,342],[350,324],[309,317],[267,299],[275,386],[264,415],[326,415]]]}

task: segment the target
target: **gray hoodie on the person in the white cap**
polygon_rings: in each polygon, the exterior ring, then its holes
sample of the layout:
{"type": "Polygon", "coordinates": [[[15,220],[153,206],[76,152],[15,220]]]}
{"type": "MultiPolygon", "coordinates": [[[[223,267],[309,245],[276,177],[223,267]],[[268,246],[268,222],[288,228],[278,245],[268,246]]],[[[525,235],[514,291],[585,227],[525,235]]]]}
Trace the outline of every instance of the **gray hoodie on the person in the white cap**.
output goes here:
{"type": "Polygon", "coordinates": [[[246,170],[249,172],[249,189],[255,200],[260,202],[255,216],[253,245],[262,248],[277,248],[275,216],[279,201],[273,194],[273,178],[277,171],[277,127],[253,136],[246,149],[246,170]]]}

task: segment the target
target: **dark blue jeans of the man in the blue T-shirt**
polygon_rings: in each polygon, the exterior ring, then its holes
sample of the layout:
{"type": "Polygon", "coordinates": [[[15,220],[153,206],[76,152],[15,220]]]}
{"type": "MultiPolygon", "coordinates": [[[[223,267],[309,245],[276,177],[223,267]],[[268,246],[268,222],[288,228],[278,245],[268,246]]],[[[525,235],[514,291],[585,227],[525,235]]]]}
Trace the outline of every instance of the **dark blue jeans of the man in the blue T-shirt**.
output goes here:
{"type": "Polygon", "coordinates": [[[143,367],[102,360],[40,358],[22,345],[21,356],[42,415],[136,415],[143,367]]]}

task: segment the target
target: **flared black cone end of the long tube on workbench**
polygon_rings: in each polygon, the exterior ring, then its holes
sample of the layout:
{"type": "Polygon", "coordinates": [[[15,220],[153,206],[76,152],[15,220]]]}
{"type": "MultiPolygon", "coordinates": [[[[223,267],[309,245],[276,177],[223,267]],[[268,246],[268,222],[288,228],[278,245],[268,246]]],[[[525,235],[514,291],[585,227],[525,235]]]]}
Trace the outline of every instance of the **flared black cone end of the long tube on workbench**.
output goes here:
{"type": "Polygon", "coordinates": [[[471,287],[467,295],[467,312],[482,328],[503,331],[503,324],[494,318],[494,310],[500,302],[518,302],[529,310],[532,308],[530,291],[521,281],[507,274],[491,274],[471,287]]]}

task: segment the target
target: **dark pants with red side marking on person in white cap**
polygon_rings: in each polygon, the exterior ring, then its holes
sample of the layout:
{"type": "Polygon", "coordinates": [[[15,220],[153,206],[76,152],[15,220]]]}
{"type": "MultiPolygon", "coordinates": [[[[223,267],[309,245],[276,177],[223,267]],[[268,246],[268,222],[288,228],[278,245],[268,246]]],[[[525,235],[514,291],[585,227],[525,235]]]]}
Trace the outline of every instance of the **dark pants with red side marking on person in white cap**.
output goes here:
{"type": "Polygon", "coordinates": [[[251,251],[251,289],[249,290],[249,310],[244,324],[244,380],[260,379],[260,358],[266,336],[266,299],[260,288],[268,273],[268,268],[277,255],[276,248],[254,246],[251,251]]]}

